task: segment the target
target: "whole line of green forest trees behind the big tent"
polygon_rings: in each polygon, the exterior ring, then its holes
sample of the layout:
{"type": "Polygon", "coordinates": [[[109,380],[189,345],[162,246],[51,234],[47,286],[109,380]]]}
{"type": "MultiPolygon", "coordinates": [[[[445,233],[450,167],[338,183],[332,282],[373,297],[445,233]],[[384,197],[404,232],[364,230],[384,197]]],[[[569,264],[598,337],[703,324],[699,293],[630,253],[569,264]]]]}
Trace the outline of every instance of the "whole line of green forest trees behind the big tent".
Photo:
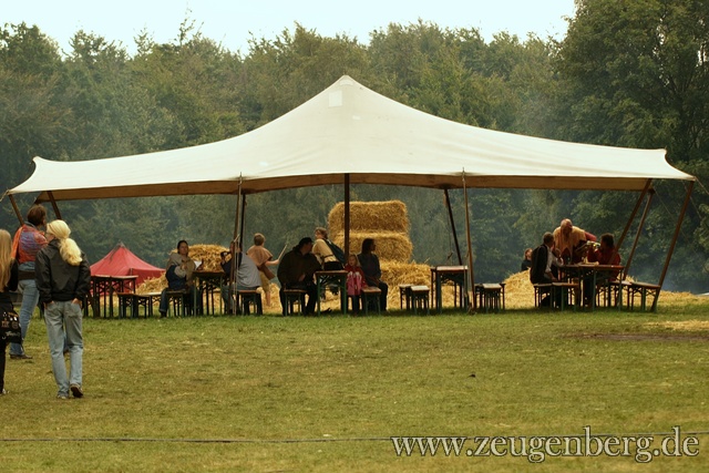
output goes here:
{"type": "MultiPolygon", "coordinates": [[[[63,51],[41,25],[4,24],[0,186],[23,182],[37,155],[95,160],[236,136],[289,112],[342,74],[398,102],[470,125],[666,148],[670,164],[701,183],[709,174],[708,29],[706,2],[577,0],[567,34],[558,41],[501,32],[486,42],[474,28],[448,29],[420,20],[374,30],[364,44],[345,34],[322,37],[296,23],[273,39],[251,38],[246,52],[234,52],[186,19],[169,43],[138,34],[131,55],[121,43],[94,33],[78,31],[71,50],[63,51]]],[[[631,270],[650,282],[659,277],[685,193],[677,182],[657,182],[655,188],[631,270]]],[[[450,197],[464,243],[464,196],[452,191],[450,197]]],[[[19,196],[22,212],[33,198],[19,196]]],[[[352,188],[352,199],[390,198],[409,208],[418,263],[456,263],[440,191],[352,188]]],[[[564,217],[596,235],[619,236],[636,198],[624,192],[469,191],[475,277],[495,281],[514,273],[524,248],[538,245],[542,234],[564,217]]],[[[340,200],[337,186],[249,195],[245,233],[264,233],[277,253],[326,226],[340,200]]],[[[707,291],[708,204],[703,186],[696,186],[668,288],[707,291]]],[[[181,238],[226,245],[236,197],[76,200],[60,207],[90,261],[122,241],[162,266],[181,238]]],[[[6,199],[0,227],[17,225],[6,199]]]]}

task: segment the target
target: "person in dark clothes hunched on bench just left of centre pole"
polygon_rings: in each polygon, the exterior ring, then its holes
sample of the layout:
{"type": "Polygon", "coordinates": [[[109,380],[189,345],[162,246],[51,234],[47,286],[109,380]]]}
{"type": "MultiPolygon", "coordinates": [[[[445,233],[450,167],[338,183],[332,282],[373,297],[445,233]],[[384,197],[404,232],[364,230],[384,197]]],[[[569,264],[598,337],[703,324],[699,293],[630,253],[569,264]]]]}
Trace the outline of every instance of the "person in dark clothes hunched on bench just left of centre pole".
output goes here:
{"type": "Polygon", "coordinates": [[[284,255],[278,265],[278,280],[280,281],[280,306],[286,315],[285,289],[302,289],[308,296],[305,313],[314,313],[318,301],[318,290],[315,284],[315,271],[320,269],[318,258],[312,254],[312,238],[301,238],[297,246],[284,255]]]}

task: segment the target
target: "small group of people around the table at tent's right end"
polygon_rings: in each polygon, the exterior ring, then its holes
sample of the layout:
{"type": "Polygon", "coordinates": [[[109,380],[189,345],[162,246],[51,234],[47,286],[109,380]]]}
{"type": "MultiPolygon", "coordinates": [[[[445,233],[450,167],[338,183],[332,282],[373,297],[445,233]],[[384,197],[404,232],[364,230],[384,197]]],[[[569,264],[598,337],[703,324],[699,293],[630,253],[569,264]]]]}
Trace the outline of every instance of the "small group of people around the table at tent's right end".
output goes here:
{"type": "MultiPolygon", "coordinates": [[[[606,233],[600,240],[592,234],[575,226],[569,218],[564,218],[553,233],[542,236],[542,244],[524,251],[521,271],[530,271],[532,284],[549,284],[559,280],[559,268],[582,263],[598,265],[620,265],[620,254],[615,246],[613,234],[606,233]]],[[[618,279],[619,270],[604,271],[596,275],[596,284],[605,285],[618,279]]],[[[585,306],[590,305],[594,294],[593,281],[586,276],[584,280],[585,306]]],[[[549,298],[543,299],[543,305],[549,305],[549,298]]]]}

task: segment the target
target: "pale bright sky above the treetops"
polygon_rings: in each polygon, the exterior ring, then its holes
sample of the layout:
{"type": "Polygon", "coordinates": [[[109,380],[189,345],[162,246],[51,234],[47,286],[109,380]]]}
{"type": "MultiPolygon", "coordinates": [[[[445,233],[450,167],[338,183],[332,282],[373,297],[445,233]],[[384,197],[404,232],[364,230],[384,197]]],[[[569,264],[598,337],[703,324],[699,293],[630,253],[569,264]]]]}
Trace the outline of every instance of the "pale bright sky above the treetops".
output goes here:
{"type": "Polygon", "coordinates": [[[203,37],[247,53],[251,37],[273,40],[294,31],[296,22],[322,37],[343,33],[364,44],[373,30],[419,19],[441,28],[476,28],[490,41],[502,31],[521,40],[530,32],[561,39],[564,17],[573,14],[574,0],[0,0],[1,24],[35,24],[65,52],[80,30],[121,42],[130,53],[143,31],[157,43],[174,43],[185,19],[194,20],[203,37]]]}

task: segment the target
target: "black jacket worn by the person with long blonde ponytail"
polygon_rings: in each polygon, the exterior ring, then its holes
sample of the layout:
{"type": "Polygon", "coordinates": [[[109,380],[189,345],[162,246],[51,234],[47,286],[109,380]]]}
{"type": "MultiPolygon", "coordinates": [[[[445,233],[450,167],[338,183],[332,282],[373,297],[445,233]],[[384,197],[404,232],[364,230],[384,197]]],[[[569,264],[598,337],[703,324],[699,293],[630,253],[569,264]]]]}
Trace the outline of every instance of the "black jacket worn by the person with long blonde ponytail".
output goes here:
{"type": "Polygon", "coordinates": [[[83,251],[79,266],[64,261],[59,253],[59,240],[53,239],[37,254],[34,279],[42,304],[82,300],[91,286],[91,267],[83,251]]]}

